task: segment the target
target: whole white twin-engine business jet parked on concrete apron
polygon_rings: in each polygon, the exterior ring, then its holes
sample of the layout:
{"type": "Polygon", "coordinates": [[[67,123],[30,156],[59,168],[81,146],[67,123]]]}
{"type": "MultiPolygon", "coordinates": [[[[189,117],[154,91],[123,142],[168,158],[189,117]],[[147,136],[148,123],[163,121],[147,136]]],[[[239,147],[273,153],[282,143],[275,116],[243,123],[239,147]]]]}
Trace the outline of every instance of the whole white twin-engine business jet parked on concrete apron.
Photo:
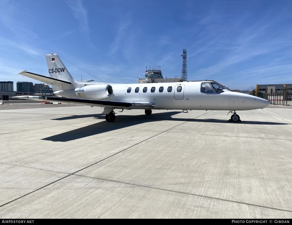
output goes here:
{"type": "MultiPolygon", "coordinates": [[[[104,107],[102,114],[108,122],[115,120],[114,109],[228,110],[231,121],[239,122],[237,110],[267,107],[263,98],[232,92],[214,81],[184,81],[179,83],[102,83],[76,81],[72,78],[57,54],[46,55],[50,77],[27,72],[20,75],[51,84],[59,97],[15,96],[28,100],[50,100],[104,107]]],[[[228,114],[227,114],[228,115],[228,114]]]]}

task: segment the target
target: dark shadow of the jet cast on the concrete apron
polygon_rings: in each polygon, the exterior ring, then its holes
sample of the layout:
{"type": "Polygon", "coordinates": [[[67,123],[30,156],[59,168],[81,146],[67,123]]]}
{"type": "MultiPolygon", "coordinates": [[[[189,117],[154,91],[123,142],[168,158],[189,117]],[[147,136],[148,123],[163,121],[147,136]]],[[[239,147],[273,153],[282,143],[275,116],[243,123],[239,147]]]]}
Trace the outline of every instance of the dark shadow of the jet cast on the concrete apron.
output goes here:
{"type": "MultiPolygon", "coordinates": [[[[179,112],[162,112],[154,113],[151,116],[147,115],[119,115],[116,121],[109,123],[105,121],[105,116],[99,114],[91,115],[77,115],[77,116],[67,116],[63,118],[56,118],[53,120],[69,120],[76,118],[86,118],[94,117],[95,119],[102,119],[104,121],[91,124],[82,128],[77,128],[75,130],[70,130],[62,134],[53,135],[51,137],[46,137],[41,140],[53,141],[53,142],[67,142],[75,139],[89,137],[92,135],[101,134],[104,132],[109,132],[113,130],[118,130],[133,125],[141,123],[149,123],[154,121],[181,121],[181,122],[203,122],[203,123],[228,123],[227,119],[192,119],[192,118],[172,118],[171,116],[181,113],[179,112]]],[[[258,122],[258,121],[242,121],[240,124],[258,124],[258,125],[287,125],[287,123],[273,123],[273,122],[258,122]]]]}

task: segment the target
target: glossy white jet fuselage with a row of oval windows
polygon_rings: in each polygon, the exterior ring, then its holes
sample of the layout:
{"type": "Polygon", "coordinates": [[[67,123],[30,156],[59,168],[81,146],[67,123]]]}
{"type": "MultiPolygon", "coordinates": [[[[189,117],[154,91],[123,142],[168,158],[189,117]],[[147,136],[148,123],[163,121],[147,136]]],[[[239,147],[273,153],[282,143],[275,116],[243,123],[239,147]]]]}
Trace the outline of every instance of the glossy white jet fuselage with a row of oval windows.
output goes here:
{"type": "MultiPolygon", "coordinates": [[[[217,93],[202,91],[202,84],[213,81],[188,81],[180,83],[118,84],[98,83],[74,90],[55,92],[68,98],[94,99],[117,102],[152,102],[154,107],[131,106],[128,109],[179,109],[179,110],[251,110],[267,107],[269,101],[243,93],[223,89],[217,93]],[[112,94],[106,93],[106,87],[112,87],[112,94]],[[98,88],[97,88],[97,87],[98,88]],[[101,88],[100,88],[100,87],[101,88]],[[88,91],[86,92],[86,88],[88,91]],[[97,90],[98,89],[98,90],[97,90]],[[82,92],[84,90],[84,92],[82,92]],[[102,94],[103,93],[103,94],[102,94]]],[[[122,107],[115,107],[122,108],[122,107]]]]}

